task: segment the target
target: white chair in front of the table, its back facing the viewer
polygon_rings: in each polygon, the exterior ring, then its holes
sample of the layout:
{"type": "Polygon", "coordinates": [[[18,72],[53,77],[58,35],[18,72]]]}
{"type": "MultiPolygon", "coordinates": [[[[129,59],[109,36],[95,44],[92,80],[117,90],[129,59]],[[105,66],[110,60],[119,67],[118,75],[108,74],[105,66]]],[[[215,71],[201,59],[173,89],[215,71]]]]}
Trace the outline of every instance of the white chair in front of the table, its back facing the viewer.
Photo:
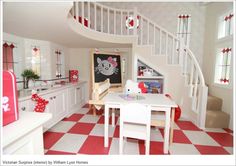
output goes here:
{"type": "Polygon", "coordinates": [[[138,103],[122,105],[120,109],[120,154],[123,154],[123,137],[145,140],[145,154],[150,149],[151,108],[138,103]]]}

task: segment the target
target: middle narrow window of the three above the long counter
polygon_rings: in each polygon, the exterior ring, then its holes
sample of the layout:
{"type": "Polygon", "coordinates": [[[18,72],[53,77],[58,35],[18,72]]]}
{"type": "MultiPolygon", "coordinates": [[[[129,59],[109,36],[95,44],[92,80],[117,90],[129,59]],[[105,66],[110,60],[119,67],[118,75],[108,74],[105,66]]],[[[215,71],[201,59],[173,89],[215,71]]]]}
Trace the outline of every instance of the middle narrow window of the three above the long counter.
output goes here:
{"type": "Polygon", "coordinates": [[[31,59],[31,64],[32,64],[32,70],[40,76],[40,49],[39,47],[32,47],[32,59],[31,59]]]}

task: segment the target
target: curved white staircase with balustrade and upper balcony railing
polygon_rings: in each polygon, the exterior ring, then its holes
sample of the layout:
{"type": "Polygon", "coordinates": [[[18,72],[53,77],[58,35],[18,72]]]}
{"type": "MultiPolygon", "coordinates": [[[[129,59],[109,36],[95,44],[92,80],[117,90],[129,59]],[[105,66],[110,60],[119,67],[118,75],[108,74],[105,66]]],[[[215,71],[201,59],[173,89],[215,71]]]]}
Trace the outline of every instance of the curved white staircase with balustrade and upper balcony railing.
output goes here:
{"type": "Polygon", "coordinates": [[[168,32],[137,11],[74,2],[68,25],[84,37],[132,47],[132,79],[137,79],[137,60],[165,76],[165,93],[180,105],[183,116],[205,127],[208,88],[198,61],[181,38],[168,32]],[[133,22],[127,28],[126,20],[133,22]]]}

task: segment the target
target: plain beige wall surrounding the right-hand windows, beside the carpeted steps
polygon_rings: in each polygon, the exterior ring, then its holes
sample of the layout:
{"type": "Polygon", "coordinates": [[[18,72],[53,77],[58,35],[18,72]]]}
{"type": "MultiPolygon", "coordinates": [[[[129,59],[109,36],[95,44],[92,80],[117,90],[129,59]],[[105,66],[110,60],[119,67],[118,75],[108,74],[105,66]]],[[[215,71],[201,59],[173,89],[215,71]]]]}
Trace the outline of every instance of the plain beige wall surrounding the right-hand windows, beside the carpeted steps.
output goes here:
{"type": "MultiPolygon", "coordinates": [[[[203,56],[203,74],[209,93],[223,99],[222,111],[230,114],[229,128],[233,129],[233,88],[222,88],[214,84],[215,42],[217,37],[217,18],[233,8],[233,3],[210,3],[206,10],[205,54],[203,56]]],[[[234,54],[235,55],[235,54],[234,54]]],[[[234,56],[232,56],[234,57],[234,56]]],[[[231,72],[233,76],[233,70],[231,72]]]]}

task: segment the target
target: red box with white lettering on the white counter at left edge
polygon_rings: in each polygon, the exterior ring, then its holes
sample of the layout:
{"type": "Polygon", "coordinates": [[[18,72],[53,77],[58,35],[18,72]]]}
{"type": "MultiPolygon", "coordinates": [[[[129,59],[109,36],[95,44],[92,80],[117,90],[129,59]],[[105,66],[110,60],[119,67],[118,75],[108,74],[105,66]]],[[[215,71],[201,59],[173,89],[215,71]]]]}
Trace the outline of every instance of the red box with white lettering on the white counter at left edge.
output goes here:
{"type": "Polygon", "coordinates": [[[3,126],[19,119],[16,77],[10,71],[3,71],[2,112],[3,126]]]}

